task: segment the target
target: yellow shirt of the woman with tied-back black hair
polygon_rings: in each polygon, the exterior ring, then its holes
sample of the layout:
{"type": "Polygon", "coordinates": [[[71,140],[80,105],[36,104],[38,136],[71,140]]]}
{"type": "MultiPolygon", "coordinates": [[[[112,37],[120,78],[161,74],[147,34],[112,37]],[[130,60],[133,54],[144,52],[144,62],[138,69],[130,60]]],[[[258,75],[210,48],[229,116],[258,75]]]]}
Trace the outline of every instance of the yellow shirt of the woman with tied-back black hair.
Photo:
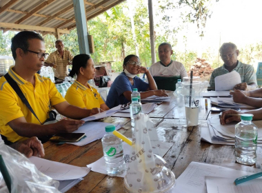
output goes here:
{"type": "Polygon", "coordinates": [[[79,81],[74,81],[68,88],[65,99],[70,105],[87,109],[100,108],[100,105],[105,103],[97,89],[92,88],[89,84],[88,87],[85,87],[79,81]]]}

